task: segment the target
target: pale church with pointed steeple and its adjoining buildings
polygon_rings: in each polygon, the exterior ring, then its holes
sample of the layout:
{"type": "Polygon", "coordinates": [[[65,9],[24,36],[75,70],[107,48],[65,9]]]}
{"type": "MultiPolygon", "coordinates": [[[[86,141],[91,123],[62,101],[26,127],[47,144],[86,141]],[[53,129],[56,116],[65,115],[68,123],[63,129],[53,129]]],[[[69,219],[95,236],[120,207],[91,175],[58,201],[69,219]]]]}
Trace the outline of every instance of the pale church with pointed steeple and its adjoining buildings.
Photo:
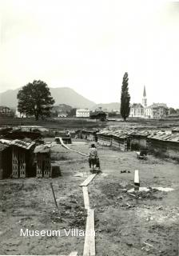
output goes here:
{"type": "Polygon", "coordinates": [[[169,114],[169,108],[165,103],[153,103],[147,106],[146,90],[144,86],[142,103],[133,103],[130,106],[130,118],[165,118],[169,114]]]}

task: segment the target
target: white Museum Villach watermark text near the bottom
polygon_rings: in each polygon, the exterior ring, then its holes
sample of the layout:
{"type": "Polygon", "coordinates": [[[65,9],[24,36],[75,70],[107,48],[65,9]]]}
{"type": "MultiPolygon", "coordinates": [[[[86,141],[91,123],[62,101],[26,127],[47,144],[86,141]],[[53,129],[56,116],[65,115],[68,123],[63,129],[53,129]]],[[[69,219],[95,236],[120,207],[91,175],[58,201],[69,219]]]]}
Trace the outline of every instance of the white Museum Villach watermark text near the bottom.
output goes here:
{"type": "Polygon", "coordinates": [[[86,235],[95,236],[94,230],[62,229],[62,230],[20,230],[21,237],[85,237],[86,235]]]}

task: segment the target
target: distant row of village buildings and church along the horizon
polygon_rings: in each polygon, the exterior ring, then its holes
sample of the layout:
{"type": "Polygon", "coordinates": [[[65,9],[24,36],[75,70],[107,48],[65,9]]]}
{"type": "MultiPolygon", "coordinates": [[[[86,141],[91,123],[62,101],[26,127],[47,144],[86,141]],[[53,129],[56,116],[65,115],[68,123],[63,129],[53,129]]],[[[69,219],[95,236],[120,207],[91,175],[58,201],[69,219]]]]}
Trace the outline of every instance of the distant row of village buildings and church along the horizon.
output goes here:
{"type": "MultiPolygon", "coordinates": [[[[26,114],[22,114],[18,109],[10,108],[9,106],[0,106],[0,115],[4,117],[14,118],[30,118],[26,114]]],[[[179,116],[179,111],[169,108],[165,103],[153,103],[148,106],[146,89],[144,86],[143,97],[141,102],[130,104],[129,118],[174,118],[179,116]]],[[[90,108],[73,108],[72,106],[63,104],[54,105],[51,109],[52,118],[91,118],[106,121],[108,118],[121,118],[120,103],[117,109],[97,106],[95,110],[90,108]]]]}

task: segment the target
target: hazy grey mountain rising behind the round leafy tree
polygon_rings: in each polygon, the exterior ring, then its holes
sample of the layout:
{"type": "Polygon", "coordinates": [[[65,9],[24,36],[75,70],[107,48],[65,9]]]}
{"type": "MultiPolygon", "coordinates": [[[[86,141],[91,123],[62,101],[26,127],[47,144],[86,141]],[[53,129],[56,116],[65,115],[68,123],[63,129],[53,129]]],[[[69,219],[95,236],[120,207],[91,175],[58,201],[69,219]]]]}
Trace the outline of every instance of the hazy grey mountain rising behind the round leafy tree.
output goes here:
{"type": "MultiPolygon", "coordinates": [[[[0,105],[9,106],[11,108],[18,106],[17,94],[18,88],[16,90],[6,90],[0,94],[0,105]]],[[[54,105],[66,104],[72,107],[88,107],[91,108],[95,105],[95,102],[90,101],[89,99],[83,97],[82,95],[75,92],[69,87],[59,87],[59,88],[50,88],[51,95],[55,100],[54,105]]]]}

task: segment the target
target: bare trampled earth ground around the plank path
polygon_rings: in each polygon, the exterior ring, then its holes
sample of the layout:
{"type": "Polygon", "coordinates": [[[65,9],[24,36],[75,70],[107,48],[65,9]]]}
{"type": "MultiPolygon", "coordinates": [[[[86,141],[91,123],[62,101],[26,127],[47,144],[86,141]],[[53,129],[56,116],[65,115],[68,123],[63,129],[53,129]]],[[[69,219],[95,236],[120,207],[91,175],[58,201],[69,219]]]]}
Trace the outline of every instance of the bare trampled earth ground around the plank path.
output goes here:
{"type": "MultiPolygon", "coordinates": [[[[88,142],[71,148],[87,153],[88,142]]],[[[90,183],[90,207],[95,210],[96,253],[99,256],[178,255],[179,168],[149,156],[138,160],[134,152],[98,147],[102,173],[90,183]],[[141,186],[172,187],[172,192],[149,190],[135,198],[126,190],[133,187],[134,170],[139,170],[141,186]],[[126,173],[121,174],[121,170],[126,173]],[[128,173],[130,171],[130,173],[128,173]],[[149,244],[149,245],[148,245],[149,244]]],[[[26,178],[0,181],[0,254],[82,255],[84,237],[20,237],[20,229],[85,230],[82,188],[90,174],[87,158],[54,146],[53,160],[62,177],[26,178]],[[74,174],[83,177],[74,177],[74,174]],[[59,211],[50,189],[53,182],[59,211]]]]}

